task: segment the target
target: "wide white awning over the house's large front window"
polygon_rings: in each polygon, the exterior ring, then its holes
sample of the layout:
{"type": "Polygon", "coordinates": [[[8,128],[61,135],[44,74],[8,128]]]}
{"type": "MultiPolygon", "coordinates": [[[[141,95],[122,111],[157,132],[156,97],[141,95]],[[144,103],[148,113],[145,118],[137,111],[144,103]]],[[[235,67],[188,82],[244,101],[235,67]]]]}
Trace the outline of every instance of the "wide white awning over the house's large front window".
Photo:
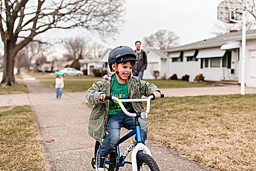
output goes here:
{"type": "Polygon", "coordinates": [[[216,57],[223,57],[226,50],[220,50],[219,47],[217,48],[210,48],[210,49],[200,49],[196,58],[216,58],[216,57]]]}

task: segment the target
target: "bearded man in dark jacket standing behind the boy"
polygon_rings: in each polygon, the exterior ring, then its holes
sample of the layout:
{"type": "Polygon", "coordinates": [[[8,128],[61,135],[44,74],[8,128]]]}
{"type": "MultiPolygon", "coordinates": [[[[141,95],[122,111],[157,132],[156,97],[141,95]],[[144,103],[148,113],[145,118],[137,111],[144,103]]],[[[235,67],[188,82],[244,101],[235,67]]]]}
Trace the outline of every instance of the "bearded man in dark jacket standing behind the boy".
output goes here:
{"type": "Polygon", "coordinates": [[[136,59],[138,60],[138,62],[136,62],[132,68],[132,75],[140,77],[140,79],[142,80],[143,72],[147,68],[148,62],[147,62],[147,54],[145,51],[140,49],[140,45],[141,45],[140,41],[135,42],[136,50],[134,51],[135,51],[136,59]]]}

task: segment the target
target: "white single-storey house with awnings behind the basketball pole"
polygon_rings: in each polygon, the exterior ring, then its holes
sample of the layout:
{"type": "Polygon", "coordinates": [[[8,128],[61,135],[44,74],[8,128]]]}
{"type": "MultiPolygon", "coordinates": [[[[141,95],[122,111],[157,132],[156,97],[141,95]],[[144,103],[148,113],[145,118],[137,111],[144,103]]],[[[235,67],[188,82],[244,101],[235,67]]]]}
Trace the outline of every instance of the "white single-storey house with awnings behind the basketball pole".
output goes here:
{"type": "MultiPolygon", "coordinates": [[[[232,32],[212,39],[165,50],[168,53],[168,77],[203,74],[205,80],[240,82],[242,33],[232,32]]],[[[256,87],[256,30],[246,33],[245,83],[256,87]]]]}

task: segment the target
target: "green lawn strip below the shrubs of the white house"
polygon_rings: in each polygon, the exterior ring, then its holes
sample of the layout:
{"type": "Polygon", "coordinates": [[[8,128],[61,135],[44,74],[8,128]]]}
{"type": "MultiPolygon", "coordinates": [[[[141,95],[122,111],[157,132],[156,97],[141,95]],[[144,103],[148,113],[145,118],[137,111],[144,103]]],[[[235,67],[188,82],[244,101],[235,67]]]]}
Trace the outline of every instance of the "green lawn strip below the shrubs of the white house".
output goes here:
{"type": "Polygon", "coordinates": [[[201,86],[211,86],[203,85],[199,83],[190,83],[188,81],[180,80],[145,80],[149,83],[157,85],[158,88],[181,88],[181,87],[201,87],[201,86]]]}

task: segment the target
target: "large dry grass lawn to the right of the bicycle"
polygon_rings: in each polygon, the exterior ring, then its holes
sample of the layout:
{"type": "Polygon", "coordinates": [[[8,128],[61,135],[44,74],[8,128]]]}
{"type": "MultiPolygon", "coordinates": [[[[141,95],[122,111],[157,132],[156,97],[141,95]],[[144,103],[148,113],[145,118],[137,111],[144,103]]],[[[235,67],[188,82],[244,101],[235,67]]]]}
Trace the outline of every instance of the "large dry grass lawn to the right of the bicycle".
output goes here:
{"type": "Polygon", "coordinates": [[[149,137],[220,171],[255,171],[256,95],[153,101],[149,137]]]}

